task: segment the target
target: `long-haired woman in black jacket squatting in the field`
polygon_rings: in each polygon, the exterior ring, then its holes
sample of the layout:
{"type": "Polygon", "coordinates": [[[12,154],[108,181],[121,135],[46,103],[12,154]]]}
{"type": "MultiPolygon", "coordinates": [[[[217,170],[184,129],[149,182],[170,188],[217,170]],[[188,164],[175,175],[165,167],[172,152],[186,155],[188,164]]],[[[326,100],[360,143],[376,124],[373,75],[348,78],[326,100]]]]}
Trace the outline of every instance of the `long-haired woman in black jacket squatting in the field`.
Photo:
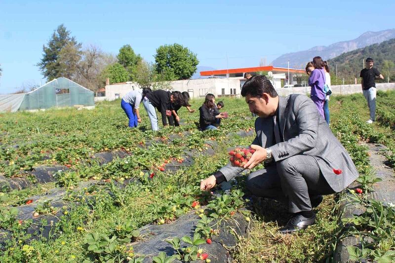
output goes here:
{"type": "Polygon", "coordinates": [[[206,99],[203,105],[199,108],[199,126],[202,131],[204,130],[216,130],[215,126],[216,119],[223,119],[222,113],[219,113],[215,107],[215,96],[211,93],[206,95],[206,99]]]}

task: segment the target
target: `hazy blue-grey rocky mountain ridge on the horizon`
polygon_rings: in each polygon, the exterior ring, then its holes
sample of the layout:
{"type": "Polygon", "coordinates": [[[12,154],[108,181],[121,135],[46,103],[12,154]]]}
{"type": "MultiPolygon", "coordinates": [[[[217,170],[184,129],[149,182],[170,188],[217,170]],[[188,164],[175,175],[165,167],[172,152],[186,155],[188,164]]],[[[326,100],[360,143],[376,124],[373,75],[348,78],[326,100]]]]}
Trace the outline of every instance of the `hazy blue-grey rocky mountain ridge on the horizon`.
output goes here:
{"type": "Polygon", "coordinates": [[[304,69],[307,62],[311,61],[315,56],[320,56],[324,60],[328,60],[344,52],[349,52],[375,43],[381,43],[391,38],[395,38],[395,29],[379,32],[369,31],[353,40],[341,41],[328,46],[315,46],[308,50],[281,55],[272,62],[272,65],[276,67],[287,67],[289,60],[291,68],[304,69]]]}

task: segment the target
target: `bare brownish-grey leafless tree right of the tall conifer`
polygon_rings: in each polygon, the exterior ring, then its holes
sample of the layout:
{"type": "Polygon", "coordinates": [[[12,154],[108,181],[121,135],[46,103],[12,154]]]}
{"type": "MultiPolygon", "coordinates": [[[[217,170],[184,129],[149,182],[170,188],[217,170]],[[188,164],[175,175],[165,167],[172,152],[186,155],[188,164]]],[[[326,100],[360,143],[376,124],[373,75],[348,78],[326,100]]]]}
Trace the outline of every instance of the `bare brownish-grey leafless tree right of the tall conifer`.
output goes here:
{"type": "Polygon", "coordinates": [[[82,51],[78,74],[74,81],[92,91],[97,91],[104,87],[106,80],[103,75],[104,70],[116,62],[115,56],[104,53],[95,45],[89,45],[82,51]]]}

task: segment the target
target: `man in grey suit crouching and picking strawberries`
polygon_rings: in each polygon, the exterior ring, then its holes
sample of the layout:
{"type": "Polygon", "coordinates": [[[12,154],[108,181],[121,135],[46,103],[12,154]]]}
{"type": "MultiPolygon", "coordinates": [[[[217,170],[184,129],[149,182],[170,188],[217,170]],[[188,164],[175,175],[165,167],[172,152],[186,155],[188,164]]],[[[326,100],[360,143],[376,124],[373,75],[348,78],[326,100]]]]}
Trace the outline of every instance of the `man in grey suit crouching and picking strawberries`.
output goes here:
{"type": "Polygon", "coordinates": [[[243,168],[229,163],[202,180],[200,188],[209,190],[265,162],[265,169],[249,174],[247,188],[257,196],[287,199],[292,217],[279,231],[313,225],[313,207],[322,201],[321,195],[339,192],[358,177],[350,155],[305,95],[280,97],[261,75],[248,79],[241,95],[250,112],[259,115],[251,145],[256,151],[243,168]]]}

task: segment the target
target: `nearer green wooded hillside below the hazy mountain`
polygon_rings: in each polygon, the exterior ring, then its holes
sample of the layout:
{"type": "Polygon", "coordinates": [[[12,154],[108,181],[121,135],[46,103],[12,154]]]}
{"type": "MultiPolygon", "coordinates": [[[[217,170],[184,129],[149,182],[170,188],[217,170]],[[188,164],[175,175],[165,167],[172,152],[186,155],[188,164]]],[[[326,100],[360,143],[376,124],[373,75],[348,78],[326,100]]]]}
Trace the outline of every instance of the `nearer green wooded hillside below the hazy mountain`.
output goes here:
{"type": "MultiPolygon", "coordinates": [[[[363,48],[343,53],[333,59],[328,60],[331,73],[334,73],[336,64],[339,78],[359,78],[359,73],[363,68],[363,61],[370,57],[374,60],[374,67],[377,68],[387,80],[388,73],[383,69],[385,60],[395,62],[395,38],[373,44],[363,48]]],[[[390,77],[395,78],[395,69],[390,69],[390,77]]],[[[331,74],[333,75],[333,74],[331,74]]]]}

